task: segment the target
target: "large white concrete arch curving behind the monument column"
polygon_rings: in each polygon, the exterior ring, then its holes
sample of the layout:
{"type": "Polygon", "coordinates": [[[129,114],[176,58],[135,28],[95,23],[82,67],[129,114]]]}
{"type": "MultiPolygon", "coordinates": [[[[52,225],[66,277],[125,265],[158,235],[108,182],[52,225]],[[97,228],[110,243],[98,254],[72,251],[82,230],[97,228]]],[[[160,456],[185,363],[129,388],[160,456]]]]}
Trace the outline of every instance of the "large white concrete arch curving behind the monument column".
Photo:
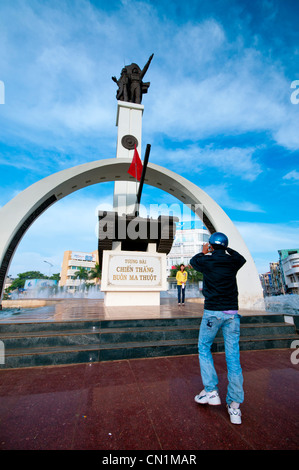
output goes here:
{"type": "MultiPolygon", "coordinates": [[[[130,181],[127,173],[130,159],[104,159],[85,163],[54,173],[19,193],[0,209],[0,291],[13,254],[31,223],[50,205],[87,186],[105,181],[130,181]],[[2,285],[1,285],[2,280],[2,285]]],[[[260,301],[262,288],[252,256],[233,222],[221,207],[202,189],[186,178],[161,166],[149,163],[145,183],[172,194],[184,204],[203,208],[198,215],[212,232],[224,232],[231,247],[239,251],[247,263],[238,273],[240,307],[251,308],[260,301]]]]}

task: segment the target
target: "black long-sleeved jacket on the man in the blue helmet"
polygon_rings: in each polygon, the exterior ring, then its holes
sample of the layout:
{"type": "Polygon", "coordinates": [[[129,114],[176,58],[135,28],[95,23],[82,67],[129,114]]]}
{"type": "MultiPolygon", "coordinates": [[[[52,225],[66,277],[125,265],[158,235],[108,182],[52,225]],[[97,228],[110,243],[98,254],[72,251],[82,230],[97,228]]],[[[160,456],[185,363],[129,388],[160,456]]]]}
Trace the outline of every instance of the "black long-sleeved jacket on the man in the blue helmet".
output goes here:
{"type": "Polygon", "coordinates": [[[205,297],[205,309],[238,310],[236,275],[245,263],[246,259],[231,248],[193,256],[190,260],[191,266],[203,273],[202,293],[205,297]]]}

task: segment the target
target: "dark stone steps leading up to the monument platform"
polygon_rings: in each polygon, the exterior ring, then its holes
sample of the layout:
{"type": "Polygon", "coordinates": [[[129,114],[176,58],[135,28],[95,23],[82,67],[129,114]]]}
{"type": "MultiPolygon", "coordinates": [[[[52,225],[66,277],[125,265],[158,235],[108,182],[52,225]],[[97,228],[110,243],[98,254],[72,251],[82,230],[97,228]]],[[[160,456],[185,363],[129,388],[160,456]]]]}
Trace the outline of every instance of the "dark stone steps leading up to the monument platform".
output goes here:
{"type": "MultiPolygon", "coordinates": [[[[188,317],[0,323],[5,349],[0,368],[197,354],[200,322],[201,318],[188,317]]],[[[295,339],[299,339],[298,330],[295,324],[285,323],[284,315],[241,318],[241,350],[290,348],[295,339]]],[[[221,332],[212,351],[224,351],[221,332]]]]}

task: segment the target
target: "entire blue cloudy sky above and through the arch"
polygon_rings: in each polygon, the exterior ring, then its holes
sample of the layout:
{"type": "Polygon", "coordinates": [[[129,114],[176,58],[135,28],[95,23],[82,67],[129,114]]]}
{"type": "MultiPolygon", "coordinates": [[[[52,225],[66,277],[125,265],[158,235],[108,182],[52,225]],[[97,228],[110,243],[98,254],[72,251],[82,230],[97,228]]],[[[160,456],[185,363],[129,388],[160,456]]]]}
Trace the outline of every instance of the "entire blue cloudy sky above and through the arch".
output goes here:
{"type": "MultiPolygon", "coordinates": [[[[1,0],[0,206],[56,171],[114,158],[111,77],[154,53],[150,161],[213,197],[266,272],[277,250],[299,247],[298,21],[291,0],[1,0]]],[[[64,250],[96,249],[97,208],[112,193],[104,183],[52,206],[10,273],[59,272],[64,250]]],[[[152,201],[175,202],[145,186],[152,201]]]]}

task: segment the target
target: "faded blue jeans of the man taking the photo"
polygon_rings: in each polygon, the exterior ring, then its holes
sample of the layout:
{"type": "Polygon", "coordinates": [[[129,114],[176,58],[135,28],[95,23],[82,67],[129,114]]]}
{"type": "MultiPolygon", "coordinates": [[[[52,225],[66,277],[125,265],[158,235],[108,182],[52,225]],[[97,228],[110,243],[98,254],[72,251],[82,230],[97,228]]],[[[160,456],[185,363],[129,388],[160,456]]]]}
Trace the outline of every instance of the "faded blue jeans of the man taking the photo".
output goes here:
{"type": "Polygon", "coordinates": [[[232,401],[243,403],[243,374],[239,351],[240,315],[228,315],[218,310],[204,310],[198,339],[202,382],[206,392],[218,390],[218,377],[214,367],[211,347],[219,328],[222,328],[227,365],[226,402],[228,404],[232,401]]]}

